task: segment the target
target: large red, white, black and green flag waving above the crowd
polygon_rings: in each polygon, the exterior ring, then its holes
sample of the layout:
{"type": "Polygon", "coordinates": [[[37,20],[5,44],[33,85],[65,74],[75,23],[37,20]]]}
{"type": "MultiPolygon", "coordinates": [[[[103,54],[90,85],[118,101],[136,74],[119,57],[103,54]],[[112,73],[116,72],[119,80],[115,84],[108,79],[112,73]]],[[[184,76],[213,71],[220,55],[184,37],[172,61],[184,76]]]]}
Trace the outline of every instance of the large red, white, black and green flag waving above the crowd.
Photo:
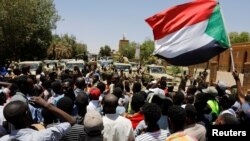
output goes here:
{"type": "Polygon", "coordinates": [[[230,47],[216,1],[178,5],[145,21],[154,33],[153,55],[172,65],[203,63],[230,47]]]}

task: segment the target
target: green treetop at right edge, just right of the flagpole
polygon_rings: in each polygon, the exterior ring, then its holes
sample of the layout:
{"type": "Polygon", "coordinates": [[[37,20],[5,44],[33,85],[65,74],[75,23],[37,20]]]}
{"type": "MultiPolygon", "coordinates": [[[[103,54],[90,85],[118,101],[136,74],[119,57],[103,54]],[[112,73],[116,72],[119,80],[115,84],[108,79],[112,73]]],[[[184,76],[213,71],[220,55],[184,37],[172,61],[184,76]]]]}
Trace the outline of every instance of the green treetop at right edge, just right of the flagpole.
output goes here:
{"type": "Polygon", "coordinates": [[[230,32],[229,38],[232,44],[250,42],[250,33],[248,32],[230,32]]]}

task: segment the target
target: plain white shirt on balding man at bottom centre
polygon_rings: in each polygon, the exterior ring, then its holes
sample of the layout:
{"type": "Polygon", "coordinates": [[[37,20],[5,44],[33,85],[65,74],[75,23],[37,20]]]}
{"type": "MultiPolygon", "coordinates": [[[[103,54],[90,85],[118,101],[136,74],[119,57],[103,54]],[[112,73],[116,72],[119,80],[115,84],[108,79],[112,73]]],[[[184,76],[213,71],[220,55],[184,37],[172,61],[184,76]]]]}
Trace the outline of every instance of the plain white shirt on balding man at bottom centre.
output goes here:
{"type": "Polygon", "coordinates": [[[133,141],[133,127],[129,119],[118,114],[105,114],[103,119],[104,141],[133,141]]]}

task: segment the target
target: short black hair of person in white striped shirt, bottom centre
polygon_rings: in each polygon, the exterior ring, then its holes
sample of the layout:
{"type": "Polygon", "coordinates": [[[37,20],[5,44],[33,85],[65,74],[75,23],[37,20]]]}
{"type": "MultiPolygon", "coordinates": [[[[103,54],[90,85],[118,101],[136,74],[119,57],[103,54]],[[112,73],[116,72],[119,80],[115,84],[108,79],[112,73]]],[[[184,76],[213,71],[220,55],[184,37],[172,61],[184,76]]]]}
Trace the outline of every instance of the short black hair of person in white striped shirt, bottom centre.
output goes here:
{"type": "Polygon", "coordinates": [[[161,108],[155,103],[147,103],[142,107],[146,124],[157,124],[161,117],[161,108]]]}

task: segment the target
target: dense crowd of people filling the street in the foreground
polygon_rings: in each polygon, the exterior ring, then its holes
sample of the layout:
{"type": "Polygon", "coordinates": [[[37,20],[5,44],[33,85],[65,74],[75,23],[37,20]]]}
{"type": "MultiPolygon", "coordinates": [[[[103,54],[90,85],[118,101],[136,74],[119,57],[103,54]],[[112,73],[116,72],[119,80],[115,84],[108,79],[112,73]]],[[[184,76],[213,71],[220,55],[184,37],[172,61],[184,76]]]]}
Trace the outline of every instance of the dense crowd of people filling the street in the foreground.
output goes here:
{"type": "Polygon", "coordinates": [[[213,125],[250,122],[250,95],[235,85],[206,82],[207,73],[177,91],[143,72],[86,67],[29,73],[15,69],[0,85],[1,141],[206,141],[213,125]]]}

